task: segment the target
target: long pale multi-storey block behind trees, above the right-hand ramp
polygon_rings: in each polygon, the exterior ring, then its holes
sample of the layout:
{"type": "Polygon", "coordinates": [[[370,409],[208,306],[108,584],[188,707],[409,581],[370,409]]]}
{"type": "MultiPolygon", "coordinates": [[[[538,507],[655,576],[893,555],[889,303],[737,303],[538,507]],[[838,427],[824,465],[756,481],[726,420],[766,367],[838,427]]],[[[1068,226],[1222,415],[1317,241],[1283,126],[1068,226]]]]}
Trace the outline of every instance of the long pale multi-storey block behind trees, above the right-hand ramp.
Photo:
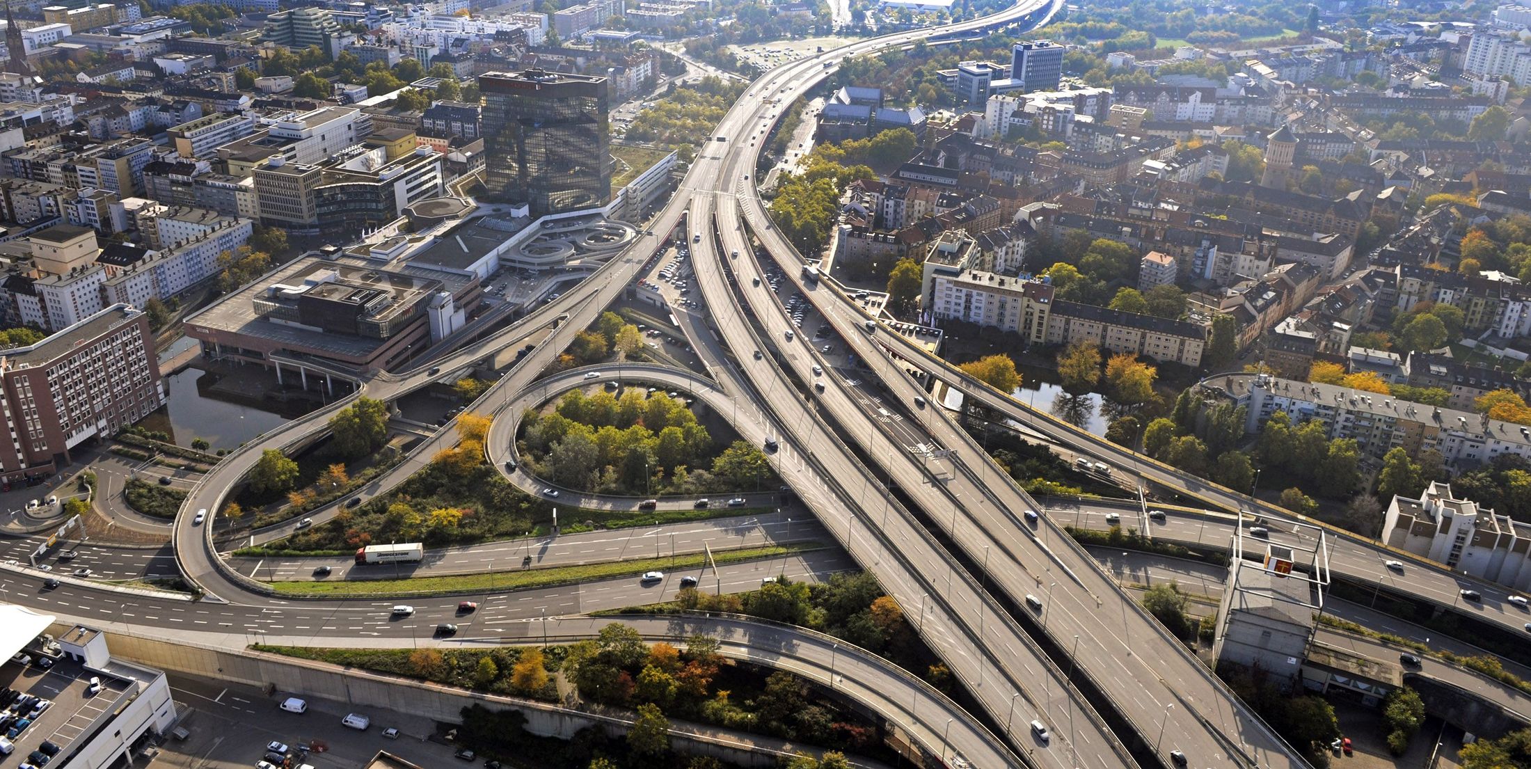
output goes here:
{"type": "Polygon", "coordinates": [[[1202,380],[1197,388],[1211,395],[1208,403],[1226,400],[1245,406],[1245,430],[1251,434],[1285,411],[1292,424],[1318,420],[1329,438],[1352,438],[1375,460],[1395,447],[1412,456],[1433,449],[1454,469],[1477,467],[1505,453],[1531,458],[1531,427],[1491,420],[1487,414],[1262,374],[1223,374],[1202,380]]]}

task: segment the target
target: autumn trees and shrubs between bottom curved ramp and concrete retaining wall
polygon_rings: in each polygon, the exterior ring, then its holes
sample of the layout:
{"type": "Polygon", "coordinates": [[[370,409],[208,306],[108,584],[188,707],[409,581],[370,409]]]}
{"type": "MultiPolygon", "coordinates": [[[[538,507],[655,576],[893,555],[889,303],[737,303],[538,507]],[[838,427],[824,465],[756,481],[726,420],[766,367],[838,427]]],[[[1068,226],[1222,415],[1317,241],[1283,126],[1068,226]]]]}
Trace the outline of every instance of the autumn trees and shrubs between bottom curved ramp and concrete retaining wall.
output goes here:
{"type": "MultiPolygon", "coordinates": [[[[446,683],[544,702],[562,702],[557,680],[573,685],[585,702],[632,708],[628,735],[611,740],[586,729],[573,740],[534,738],[514,709],[475,705],[462,711],[458,743],[484,757],[508,760],[531,744],[562,760],[550,766],[683,766],[721,769],[710,760],[675,754],[669,720],[684,718],[727,729],[787,737],[807,744],[845,748],[874,758],[893,758],[877,729],[853,709],[816,692],[784,671],[766,672],[718,653],[718,640],[690,636],[684,643],[646,643],[632,628],[612,622],[592,640],[547,648],[495,650],[337,650],[254,646],[299,659],[346,665],[375,672],[446,683]]],[[[790,760],[788,769],[844,769],[841,754],[822,760],[790,760]]]]}

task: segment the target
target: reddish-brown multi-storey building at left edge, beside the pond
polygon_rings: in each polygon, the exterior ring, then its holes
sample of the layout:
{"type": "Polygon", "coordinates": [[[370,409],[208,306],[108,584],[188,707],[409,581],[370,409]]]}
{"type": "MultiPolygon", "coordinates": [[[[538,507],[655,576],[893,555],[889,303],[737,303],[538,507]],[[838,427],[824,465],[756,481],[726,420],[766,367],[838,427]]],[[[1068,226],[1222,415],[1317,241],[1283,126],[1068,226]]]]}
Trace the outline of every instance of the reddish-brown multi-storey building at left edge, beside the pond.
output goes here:
{"type": "Polygon", "coordinates": [[[26,348],[0,351],[6,478],[51,473],[87,438],[104,438],[165,403],[149,319],[112,305],[26,348]]]}

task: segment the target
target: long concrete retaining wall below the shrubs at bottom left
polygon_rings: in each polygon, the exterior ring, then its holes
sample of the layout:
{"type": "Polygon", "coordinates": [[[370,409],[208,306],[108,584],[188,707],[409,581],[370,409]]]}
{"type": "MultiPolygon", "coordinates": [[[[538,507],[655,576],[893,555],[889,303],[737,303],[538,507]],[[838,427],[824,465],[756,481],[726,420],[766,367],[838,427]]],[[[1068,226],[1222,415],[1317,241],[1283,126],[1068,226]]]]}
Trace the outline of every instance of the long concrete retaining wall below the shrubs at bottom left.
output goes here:
{"type": "MultiPolygon", "coordinates": [[[[337,714],[351,709],[384,708],[439,722],[459,723],[462,708],[479,703],[513,708],[527,717],[527,731],[542,737],[573,737],[586,726],[600,726],[606,734],[626,734],[632,714],[609,708],[611,715],[574,711],[557,705],[514,697],[475,694],[452,686],[397,679],[323,662],[300,660],[259,651],[228,651],[155,639],[109,634],[112,656],[141,662],[171,672],[199,676],[250,686],[274,689],[269,708],[288,695],[335,703],[337,714]]],[[[323,703],[315,703],[323,706],[323,703]]],[[[717,729],[684,722],[671,723],[671,738],[677,749],[694,755],[712,755],[739,766],[772,767],[782,755],[776,748],[750,741],[746,735],[720,735],[717,729]]],[[[769,740],[767,740],[769,741],[769,740]]]]}

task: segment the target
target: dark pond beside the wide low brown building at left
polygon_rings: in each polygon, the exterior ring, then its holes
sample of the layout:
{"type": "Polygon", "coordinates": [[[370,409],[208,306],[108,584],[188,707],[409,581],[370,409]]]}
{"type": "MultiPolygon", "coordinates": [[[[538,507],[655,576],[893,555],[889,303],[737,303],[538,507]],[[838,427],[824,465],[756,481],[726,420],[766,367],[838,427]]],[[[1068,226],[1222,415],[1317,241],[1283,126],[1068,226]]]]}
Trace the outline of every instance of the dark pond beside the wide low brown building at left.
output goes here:
{"type": "Polygon", "coordinates": [[[217,381],[197,368],[185,368],[165,377],[167,406],[145,417],[139,426],[147,430],[168,432],[178,446],[191,446],[193,438],[202,438],[217,449],[234,449],[302,414],[283,415],[246,403],[219,400],[202,391],[217,381]]]}

